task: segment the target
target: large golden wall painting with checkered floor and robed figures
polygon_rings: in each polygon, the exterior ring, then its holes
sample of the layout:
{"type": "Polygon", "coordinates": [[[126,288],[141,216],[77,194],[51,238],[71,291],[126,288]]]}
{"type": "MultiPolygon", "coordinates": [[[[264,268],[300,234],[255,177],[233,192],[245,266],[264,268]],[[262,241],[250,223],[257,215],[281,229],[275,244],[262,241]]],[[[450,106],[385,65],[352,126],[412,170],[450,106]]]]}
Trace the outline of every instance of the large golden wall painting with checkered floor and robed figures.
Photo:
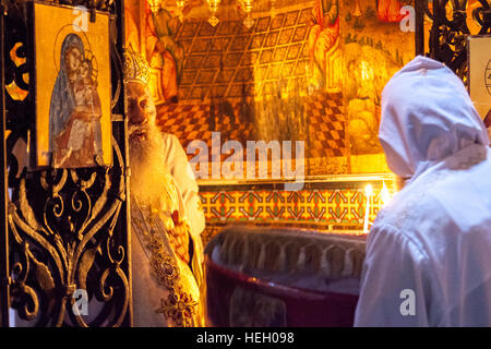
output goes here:
{"type": "Polygon", "coordinates": [[[201,140],[211,159],[219,132],[242,144],[246,163],[248,141],[300,141],[306,176],[387,172],[380,95],[414,57],[414,33],[400,29],[406,4],[258,1],[248,27],[233,1],[220,2],[212,25],[200,0],[163,1],[158,11],[127,0],[127,37],[153,67],[159,127],[184,149],[201,140]]]}

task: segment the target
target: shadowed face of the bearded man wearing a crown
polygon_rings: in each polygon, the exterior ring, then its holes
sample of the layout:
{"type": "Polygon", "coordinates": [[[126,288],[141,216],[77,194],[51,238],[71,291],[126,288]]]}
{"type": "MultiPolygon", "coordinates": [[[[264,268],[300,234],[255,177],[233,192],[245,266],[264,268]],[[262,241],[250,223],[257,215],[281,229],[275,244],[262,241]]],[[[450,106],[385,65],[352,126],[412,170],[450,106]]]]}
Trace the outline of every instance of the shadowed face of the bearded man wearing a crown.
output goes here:
{"type": "Polygon", "coordinates": [[[157,113],[154,99],[143,83],[129,82],[125,87],[130,141],[146,140],[147,128],[155,124],[157,113]]]}

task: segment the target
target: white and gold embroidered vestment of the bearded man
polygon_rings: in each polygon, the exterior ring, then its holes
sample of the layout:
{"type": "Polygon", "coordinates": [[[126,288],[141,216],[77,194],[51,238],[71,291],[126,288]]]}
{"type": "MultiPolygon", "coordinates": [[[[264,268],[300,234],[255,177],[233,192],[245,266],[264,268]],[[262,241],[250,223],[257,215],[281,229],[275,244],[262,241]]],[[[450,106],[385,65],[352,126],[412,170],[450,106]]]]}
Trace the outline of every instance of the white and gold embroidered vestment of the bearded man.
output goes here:
{"type": "MultiPolygon", "coordinates": [[[[131,198],[131,263],[135,326],[204,326],[204,215],[197,185],[178,139],[164,134],[169,173],[163,178],[164,207],[131,198]],[[178,219],[176,220],[176,216],[178,219]],[[176,229],[180,226],[179,229],[176,229]],[[182,231],[189,233],[190,255],[179,257],[182,231]]],[[[182,251],[181,251],[182,252],[182,251]]],[[[188,252],[188,251],[184,251],[188,252]]]]}

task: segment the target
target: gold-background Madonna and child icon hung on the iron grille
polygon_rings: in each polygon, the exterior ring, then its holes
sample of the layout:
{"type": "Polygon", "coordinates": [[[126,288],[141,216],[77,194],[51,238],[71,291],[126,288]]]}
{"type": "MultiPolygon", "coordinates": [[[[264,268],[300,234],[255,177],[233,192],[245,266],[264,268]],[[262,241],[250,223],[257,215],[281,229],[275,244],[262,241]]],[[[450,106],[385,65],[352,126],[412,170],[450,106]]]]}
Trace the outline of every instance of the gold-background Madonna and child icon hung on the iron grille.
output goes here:
{"type": "Polygon", "coordinates": [[[31,168],[110,166],[109,14],[33,2],[31,168]],[[49,21],[47,21],[49,19],[49,21]]]}

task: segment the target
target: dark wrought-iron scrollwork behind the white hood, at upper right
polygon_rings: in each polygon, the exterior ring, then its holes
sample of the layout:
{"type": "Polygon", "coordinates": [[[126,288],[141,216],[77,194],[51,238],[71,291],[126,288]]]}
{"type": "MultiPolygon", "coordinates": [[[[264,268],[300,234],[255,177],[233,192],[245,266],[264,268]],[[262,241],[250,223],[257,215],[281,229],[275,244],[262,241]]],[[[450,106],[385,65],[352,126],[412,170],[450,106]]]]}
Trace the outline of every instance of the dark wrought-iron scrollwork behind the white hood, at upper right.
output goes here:
{"type": "MultiPolygon", "coordinates": [[[[467,36],[491,34],[491,2],[489,0],[478,2],[479,5],[471,11],[471,17],[479,29],[471,33],[467,22],[469,1],[423,0],[422,11],[431,20],[428,35],[429,52],[418,53],[426,53],[444,62],[464,83],[467,80],[467,36]]],[[[419,26],[419,31],[422,29],[423,26],[419,26]]]]}

